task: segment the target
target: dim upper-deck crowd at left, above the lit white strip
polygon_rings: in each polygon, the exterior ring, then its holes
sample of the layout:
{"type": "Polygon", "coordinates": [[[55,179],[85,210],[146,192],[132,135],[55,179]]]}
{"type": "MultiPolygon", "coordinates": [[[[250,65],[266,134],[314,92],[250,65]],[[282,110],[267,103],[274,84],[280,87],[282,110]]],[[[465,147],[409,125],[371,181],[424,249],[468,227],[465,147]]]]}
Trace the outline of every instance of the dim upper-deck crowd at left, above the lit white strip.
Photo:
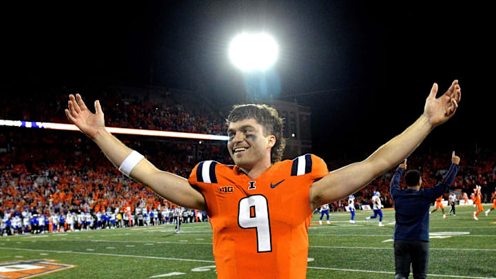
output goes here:
{"type": "MultiPolygon", "coordinates": [[[[68,123],[64,110],[68,105],[68,94],[75,92],[77,90],[59,89],[50,94],[11,94],[11,98],[0,99],[0,119],[68,123]]],[[[93,101],[99,99],[107,127],[225,134],[225,119],[218,110],[209,109],[208,105],[187,106],[170,97],[153,100],[139,94],[125,94],[123,97],[119,90],[81,95],[92,111],[93,101]]]]}

